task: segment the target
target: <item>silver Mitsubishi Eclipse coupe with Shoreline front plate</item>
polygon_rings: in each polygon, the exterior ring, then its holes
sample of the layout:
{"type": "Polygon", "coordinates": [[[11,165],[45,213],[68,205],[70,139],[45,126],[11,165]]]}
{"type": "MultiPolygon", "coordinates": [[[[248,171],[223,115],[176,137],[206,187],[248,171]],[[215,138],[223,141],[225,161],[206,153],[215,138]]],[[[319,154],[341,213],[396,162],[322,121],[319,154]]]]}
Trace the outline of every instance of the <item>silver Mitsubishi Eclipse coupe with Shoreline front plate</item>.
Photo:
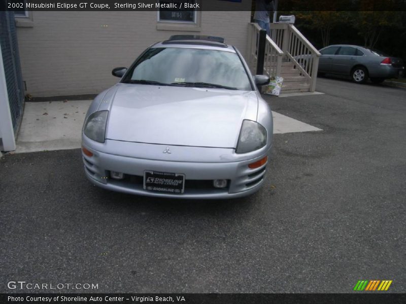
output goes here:
{"type": "Polygon", "coordinates": [[[273,120],[247,63],[224,39],[175,35],[144,51],[90,104],[87,178],[112,191],[226,199],[261,187],[273,120]]]}

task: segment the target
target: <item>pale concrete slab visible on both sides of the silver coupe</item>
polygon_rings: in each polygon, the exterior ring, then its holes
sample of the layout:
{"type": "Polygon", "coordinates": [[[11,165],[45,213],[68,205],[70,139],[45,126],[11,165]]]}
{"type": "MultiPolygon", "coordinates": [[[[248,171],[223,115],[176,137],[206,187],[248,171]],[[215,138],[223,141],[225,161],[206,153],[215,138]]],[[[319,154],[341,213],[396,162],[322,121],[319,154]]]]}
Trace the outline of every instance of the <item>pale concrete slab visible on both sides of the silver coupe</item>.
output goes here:
{"type": "MultiPolygon", "coordinates": [[[[91,100],[26,102],[15,153],[75,149],[81,146],[81,130],[91,100]]],[[[273,112],[274,133],[321,129],[273,112]]]]}

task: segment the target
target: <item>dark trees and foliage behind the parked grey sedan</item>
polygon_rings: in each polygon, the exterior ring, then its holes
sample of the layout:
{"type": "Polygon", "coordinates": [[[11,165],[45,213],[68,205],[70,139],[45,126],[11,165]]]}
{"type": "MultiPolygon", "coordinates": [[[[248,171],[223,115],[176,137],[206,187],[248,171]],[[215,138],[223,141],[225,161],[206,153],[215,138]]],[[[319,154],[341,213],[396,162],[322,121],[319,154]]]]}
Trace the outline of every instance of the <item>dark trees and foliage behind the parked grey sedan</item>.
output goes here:
{"type": "MultiPolygon", "coordinates": [[[[362,1],[367,8],[369,0],[362,1]]],[[[402,57],[406,62],[405,11],[285,11],[281,14],[295,15],[296,27],[317,48],[331,44],[366,46],[402,57]]]]}

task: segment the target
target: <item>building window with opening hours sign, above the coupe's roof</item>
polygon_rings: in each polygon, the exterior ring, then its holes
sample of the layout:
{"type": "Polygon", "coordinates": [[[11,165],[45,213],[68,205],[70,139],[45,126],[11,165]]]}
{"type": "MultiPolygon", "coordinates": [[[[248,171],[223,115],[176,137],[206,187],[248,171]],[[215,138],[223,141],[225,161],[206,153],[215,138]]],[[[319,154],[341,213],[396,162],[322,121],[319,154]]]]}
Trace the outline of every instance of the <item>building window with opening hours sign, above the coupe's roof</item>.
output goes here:
{"type": "Polygon", "coordinates": [[[158,11],[159,22],[180,22],[180,23],[196,23],[196,9],[184,8],[185,4],[193,5],[195,0],[160,0],[159,4],[167,4],[168,8],[160,8],[158,11]],[[178,8],[174,10],[171,4],[176,4],[178,8]]]}

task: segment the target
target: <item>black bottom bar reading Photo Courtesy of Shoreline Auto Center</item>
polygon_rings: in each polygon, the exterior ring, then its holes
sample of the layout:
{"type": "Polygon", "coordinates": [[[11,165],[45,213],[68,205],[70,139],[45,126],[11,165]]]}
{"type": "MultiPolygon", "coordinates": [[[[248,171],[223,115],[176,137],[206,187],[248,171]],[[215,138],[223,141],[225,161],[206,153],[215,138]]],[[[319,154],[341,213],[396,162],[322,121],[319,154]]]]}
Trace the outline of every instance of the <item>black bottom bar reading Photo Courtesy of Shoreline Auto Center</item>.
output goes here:
{"type": "Polygon", "coordinates": [[[405,294],[396,293],[158,293],[158,294],[107,294],[107,293],[82,293],[82,294],[56,294],[56,293],[33,293],[33,294],[0,294],[0,303],[2,304],[334,304],[334,303],[346,303],[346,304],[397,304],[405,303],[405,294]]]}

